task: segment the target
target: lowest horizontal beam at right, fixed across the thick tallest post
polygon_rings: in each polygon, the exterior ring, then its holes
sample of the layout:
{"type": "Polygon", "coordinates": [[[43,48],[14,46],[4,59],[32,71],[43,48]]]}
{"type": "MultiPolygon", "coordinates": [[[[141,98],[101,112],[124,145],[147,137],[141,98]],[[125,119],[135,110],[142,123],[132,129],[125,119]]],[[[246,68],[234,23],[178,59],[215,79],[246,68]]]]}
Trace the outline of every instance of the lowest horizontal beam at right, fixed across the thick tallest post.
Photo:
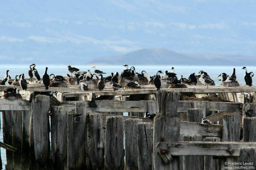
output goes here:
{"type": "Polygon", "coordinates": [[[178,142],[158,143],[161,149],[165,144],[172,156],[209,155],[209,156],[239,156],[240,149],[256,148],[256,142],[178,142]]]}

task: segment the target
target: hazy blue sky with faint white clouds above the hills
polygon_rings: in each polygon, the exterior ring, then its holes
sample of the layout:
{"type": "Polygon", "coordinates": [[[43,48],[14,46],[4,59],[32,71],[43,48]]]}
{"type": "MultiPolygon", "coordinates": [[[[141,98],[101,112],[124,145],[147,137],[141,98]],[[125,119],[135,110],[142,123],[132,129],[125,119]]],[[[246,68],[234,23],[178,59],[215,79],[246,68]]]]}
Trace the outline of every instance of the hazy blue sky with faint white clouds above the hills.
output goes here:
{"type": "Polygon", "coordinates": [[[0,59],[83,64],[157,47],[256,56],[255,9],[243,0],[1,1],[0,59]]]}

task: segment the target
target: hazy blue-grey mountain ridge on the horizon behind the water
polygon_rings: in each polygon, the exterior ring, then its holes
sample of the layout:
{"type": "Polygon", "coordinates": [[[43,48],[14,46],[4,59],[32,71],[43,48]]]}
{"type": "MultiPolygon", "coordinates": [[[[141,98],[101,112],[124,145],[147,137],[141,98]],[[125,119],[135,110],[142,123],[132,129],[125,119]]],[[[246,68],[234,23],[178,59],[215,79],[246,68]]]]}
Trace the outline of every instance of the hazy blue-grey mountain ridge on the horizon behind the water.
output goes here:
{"type": "Polygon", "coordinates": [[[86,64],[134,65],[255,65],[254,56],[185,54],[166,48],[150,48],[123,55],[98,57],[86,64]]]}

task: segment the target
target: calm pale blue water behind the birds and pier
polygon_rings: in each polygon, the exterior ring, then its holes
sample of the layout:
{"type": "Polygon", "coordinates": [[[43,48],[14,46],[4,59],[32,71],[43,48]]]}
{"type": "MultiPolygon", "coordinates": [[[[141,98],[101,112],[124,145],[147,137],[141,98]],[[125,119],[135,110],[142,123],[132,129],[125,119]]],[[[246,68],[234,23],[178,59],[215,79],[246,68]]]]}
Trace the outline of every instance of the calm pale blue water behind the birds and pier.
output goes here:
{"type": "MultiPolygon", "coordinates": [[[[48,67],[48,74],[51,73],[55,75],[66,75],[70,74],[68,71],[67,66],[65,65],[37,65],[35,68],[37,69],[39,75],[42,77],[45,71],[45,67],[48,67]]],[[[87,71],[88,69],[93,73],[93,69],[91,68],[92,65],[72,65],[72,67],[76,67],[80,69],[80,71],[87,71]]],[[[131,66],[130,66],[131,67],[131,66]]],[[[188,75],[191,73],[198,73],[200,70],[203,70],[210,75],[211,79],[215,81],[216,85],[220,85],[221,82],[218,81],[217,77],[221,73],[226,73],[231,76],[233,73],[233,68],[236,68],[236,75],[237,75],[237,81],[240,84],[245,84],[244,82],[244,70],[241,68],[243,66],[180,66],[180,65],[173,65],[173,66],[142,66],[142,65],[134,65],[136,72],[141,73],[143,70],[145,70],[148,74],[155,75],[158,70],[162,70],[163,72],[165,70],[171,71],[171,68],[175,68],[175,73],[177,74],[177,77],[180,77],[180,75],[183,75],[184,78],[188,78],[188,75]]],[[[24,73],[25,77],[28,76],[28,69],[29,66],[27,65],[1,65],[0,64],[0,79],[3,79],[6,74],[6,70],[10,70],[9,74],[12,78],[15,78],[15,75],[19,75],[24,73]]],[[[111,66],[111,65],[99,65],[96,66],[96,69],[99,69],[101,71],[104,71],[106,76],[110,75],[111,72],[121,72],[124,70],[124,66],[111,66]]],[[[256,73],[256,67],[248,67],[248,72],[255,72],[256,73]]],[[[162,74],[163,75],[163,74],[162,74]]],[[[256,85],[256,79],[252,79],[253,84],[256,85]]],[[[3,141],[3,123],[2,123],[2,112],[0,112],[0,121],[1,121],[1,131],[0,131],[0,141],[3,141]]],[[[125,113],[124,115],[127,115],[125,113]]],[[[2,158],[2,164],[3,168],[6,164],[6,153],[5,149],[1,148],[1,158],[2,158]]]]}

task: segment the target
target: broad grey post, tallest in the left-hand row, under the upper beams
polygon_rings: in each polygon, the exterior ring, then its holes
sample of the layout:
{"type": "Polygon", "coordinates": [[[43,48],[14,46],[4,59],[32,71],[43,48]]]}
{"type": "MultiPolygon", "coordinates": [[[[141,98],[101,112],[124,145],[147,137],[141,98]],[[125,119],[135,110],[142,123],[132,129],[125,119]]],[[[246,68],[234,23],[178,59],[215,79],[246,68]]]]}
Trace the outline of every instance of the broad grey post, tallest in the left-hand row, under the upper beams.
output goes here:
{"type": "Polygon", "coordinates": [[[34,102],[35,159],[38,169],[47,168],[50,162],[49,96],[37,95],[34,102]]]}

